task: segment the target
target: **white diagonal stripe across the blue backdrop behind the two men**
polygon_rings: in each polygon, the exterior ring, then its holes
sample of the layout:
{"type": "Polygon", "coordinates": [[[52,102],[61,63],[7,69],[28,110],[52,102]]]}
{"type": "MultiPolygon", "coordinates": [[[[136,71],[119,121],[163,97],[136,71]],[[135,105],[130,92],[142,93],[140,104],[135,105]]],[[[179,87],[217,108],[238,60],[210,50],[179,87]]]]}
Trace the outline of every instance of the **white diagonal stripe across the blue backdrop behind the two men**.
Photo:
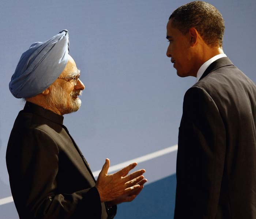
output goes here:
{"type": "MultiPolygon", "coordinates": [[[[146,155],[144,155],[142,157],[137,157],[137,158],[134,158],[132,160],[125,161],[123,163],[116,164],[114,166],[110,166],[108,172],[112,173],[114,171],[117,171],[117,170],[120,170],[120,169],[124,168],[125,166],[127,166],[127,165],[129,165],[129,164],[131,164],[133,162],[137,162],[139,164],[139,163],[142,163],[144,161],[148,161],[148,160],[154,159],[156,157],[160,157],[162,155],[171,153],[173,151],[176,151],[177,149],[178,149],[178,145],[173,145],[173,146],[170,146],[170,147],[166,147],[165,149],[162,149],[162,150],[159,150],[159,151],[155,151],[155,152],[150,153],[150,154],[146,154],[146,155]]],[[[99,172],[101,172],[101,170],[94,171],[93,172],[93,176],[94,177],[98,177],[99,172]]],[[[7,203],[10,203],[10,202],[13,202],[12,196],[0,199],[0,205],[7,204],[7,203]]]]}

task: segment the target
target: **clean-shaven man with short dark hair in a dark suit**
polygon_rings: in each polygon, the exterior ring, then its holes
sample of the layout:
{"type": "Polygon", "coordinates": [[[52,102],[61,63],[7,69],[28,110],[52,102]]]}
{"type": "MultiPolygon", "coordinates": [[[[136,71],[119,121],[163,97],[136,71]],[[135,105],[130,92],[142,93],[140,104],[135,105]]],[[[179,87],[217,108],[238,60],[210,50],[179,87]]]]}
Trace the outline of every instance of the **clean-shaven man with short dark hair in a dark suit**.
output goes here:
{"type": "Polygon", "coordinates": [[[256,218],[256,86],[223,53],[224,29],[203,1],[167,23],[178,76],[197,77],[183,102],[175,219],[256,218]]]}

